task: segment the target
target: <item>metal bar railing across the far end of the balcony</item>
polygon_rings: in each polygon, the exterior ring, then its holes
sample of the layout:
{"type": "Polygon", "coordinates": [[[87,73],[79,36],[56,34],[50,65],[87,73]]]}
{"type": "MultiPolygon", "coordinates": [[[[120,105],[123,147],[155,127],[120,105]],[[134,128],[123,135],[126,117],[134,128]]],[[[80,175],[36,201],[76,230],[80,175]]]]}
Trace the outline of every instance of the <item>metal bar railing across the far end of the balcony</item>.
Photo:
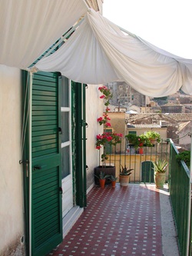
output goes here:
{"type": "MultiPolygon", "coordinates": [[[[160,143],[155,142],[153,147],[134,148],[129,145],[126,138],[122,138],[120,145],[108,147],[110,152],[107,165],[114,165],[116,176],[119,177],[121,165],[133,169],[130,181],[131,183],[154,183],[154,165],[153,161],[158,159],[169,160],[169,140],[162,139],[160,143]]],[[[167,167],[167,180],[169,174],[167,167]]]]}

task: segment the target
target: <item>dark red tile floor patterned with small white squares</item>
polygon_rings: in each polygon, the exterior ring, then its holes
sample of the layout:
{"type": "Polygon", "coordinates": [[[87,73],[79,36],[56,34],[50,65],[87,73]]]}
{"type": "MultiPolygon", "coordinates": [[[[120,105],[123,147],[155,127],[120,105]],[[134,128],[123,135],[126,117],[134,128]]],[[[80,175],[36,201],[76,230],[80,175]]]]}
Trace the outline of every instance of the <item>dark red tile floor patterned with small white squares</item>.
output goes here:
{"type": "Polygon", "coordinates": [[[51,256],[161,256],[161,211],[154,185],[95,186],[88,207],[51,256]]]}

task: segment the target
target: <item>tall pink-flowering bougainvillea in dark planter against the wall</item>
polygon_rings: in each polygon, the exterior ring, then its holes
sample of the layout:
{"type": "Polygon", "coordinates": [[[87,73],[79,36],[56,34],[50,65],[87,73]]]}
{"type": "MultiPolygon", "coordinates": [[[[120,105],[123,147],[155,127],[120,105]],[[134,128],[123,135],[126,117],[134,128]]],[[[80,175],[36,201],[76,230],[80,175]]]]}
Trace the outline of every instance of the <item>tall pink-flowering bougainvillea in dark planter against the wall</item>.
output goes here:
{"type": "MultiPolygon", "coordinates": [[[[99,91],[103,95],[100,96],[100,98],[104,99],[104,105],[106,106],[104,114],[102,117],[98,118],[99,125],[104,126],[104,132],[101,135],[96,136],[96,149],[99,151],[102,150],[101,153],[101,165],[94,168],[94,174],[98,175],[100,171],[104,171],[107,175],[114,175],[115,176],[115,167],[114,166],[108,166],[108,155],[111,153],[112,146],[115,146],[119,143],[121,143],[121,138],[123,137],[122,134],[118,134],[112,131],[108,131],[108,128],[111,127],[111,123],[109,122],[111,119],[108,116],[108,111],[110,111],[110,108],[108,108],[109,101],[112,97],[111,91],[106,86],[101,86],[98,88],[99,91]]],[[[106,183],[111,182],[109,179],[107,179],[106,183]]]]}

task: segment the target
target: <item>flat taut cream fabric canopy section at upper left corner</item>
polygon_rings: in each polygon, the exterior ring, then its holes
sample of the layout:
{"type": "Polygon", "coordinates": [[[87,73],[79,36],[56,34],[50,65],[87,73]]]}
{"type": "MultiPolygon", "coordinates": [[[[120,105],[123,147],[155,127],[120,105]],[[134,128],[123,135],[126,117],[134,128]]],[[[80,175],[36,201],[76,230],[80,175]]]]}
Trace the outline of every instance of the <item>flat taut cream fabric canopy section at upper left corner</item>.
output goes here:
{"type": "Polygon", "coordinates": [[[0,0],[0,63],[27,68],[86,11],[83,0],[0,0]]]}

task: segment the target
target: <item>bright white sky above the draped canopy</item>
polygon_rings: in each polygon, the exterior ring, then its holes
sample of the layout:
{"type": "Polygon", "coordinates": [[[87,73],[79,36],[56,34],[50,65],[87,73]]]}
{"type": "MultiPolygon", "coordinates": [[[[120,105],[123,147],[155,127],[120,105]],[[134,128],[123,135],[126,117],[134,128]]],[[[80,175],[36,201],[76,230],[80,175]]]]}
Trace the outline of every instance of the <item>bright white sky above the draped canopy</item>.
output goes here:
{"type": "Polygon", "coordinates": [[[191,0],[104,0],[103,16],[147,42],[192,59],[191,0]]]}

